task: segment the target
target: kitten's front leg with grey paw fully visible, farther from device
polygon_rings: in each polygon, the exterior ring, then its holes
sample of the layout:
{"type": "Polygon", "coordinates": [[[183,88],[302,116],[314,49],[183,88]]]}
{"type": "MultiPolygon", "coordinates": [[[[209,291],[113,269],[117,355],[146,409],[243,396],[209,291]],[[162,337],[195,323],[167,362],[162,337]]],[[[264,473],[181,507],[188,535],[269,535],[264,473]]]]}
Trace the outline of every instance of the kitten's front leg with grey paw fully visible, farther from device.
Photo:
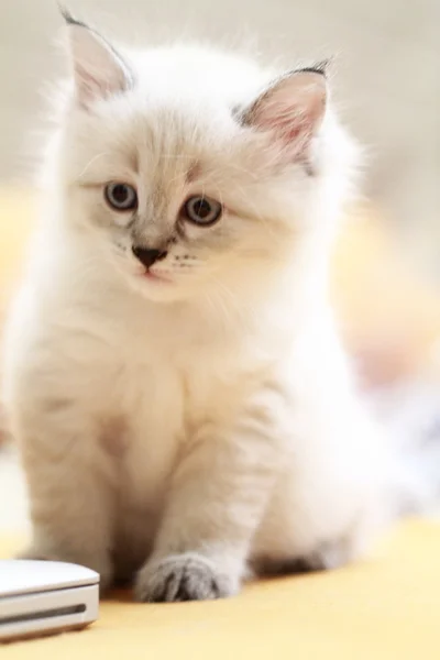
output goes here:
{"type": "Polygon", "coordinates": [[[140,601],[193,601],[238,592],[252,537],[279,469],[267,409],[229,433],[206,426],[174,475],[151,559],[139,572],[140,601]]]}

